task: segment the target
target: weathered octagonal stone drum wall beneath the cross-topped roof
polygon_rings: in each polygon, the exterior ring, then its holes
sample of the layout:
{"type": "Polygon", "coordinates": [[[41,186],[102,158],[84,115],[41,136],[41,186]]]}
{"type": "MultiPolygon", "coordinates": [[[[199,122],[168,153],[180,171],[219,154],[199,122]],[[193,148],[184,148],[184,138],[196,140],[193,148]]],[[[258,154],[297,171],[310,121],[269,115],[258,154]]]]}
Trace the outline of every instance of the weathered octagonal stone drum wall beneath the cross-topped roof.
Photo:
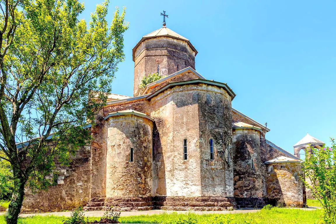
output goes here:
{"type": "Polygon", "coordinates": [[[168,76],[191,66],[195,69],[195,52],[182,40],[170,37],[157,37],[144,40],[135,51],[134,91],[135,96],[144,76],[157,72],[160,64],[160,75],[168,76]]]}

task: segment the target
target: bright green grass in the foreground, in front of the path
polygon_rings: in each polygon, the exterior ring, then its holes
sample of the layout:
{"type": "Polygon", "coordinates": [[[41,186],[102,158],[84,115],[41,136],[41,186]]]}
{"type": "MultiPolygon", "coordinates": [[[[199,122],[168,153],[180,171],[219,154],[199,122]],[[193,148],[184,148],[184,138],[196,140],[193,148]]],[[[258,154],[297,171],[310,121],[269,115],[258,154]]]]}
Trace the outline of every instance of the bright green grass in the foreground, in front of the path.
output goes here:
{"type": "MultiPolygon", "coordinates": [[[[322,210],[304,211],[299,209],[272,208],[256,213],[228,215],[162,214],[120,217],[121,223],[164,223],[175,224],[179,219],[194,219],[198,224],[316,224],[320,221],[322,210]],[[222,220],[222,222],[221,222],[222,220]]],[[[34,216],[19,219],[20,224],[62,224],[65,217],[34,216]]],[[[97,220],[99,218],[90,218],[97,220]]],[[[5,224],[5,217],[0,216],[0,224],[5,224]]]]}

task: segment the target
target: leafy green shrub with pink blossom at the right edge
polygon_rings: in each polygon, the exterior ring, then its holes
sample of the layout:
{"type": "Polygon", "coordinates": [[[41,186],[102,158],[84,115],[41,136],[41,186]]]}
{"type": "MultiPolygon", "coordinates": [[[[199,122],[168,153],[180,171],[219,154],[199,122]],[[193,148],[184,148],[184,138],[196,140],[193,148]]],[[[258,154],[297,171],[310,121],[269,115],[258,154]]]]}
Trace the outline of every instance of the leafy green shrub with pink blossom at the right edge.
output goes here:
{"type": "Polygon", "coordinates": [[[336,143],[331,139],[331,147],[309,147],[303,162],[305,186],[311,190],[324,209],[326,224],[336,224],[336,143]]]}

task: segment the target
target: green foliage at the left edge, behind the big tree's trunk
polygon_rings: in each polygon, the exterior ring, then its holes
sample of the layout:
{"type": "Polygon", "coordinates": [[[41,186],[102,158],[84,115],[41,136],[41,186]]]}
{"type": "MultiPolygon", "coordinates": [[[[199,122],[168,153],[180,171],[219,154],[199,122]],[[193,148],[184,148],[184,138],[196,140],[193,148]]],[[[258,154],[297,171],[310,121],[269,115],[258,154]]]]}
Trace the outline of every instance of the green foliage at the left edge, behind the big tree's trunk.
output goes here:
{"type": "Polygon", "coordinates": [[[13,190],[13,172],[7,160],[0,159],[0,201],[10,199],[13,190]]]}

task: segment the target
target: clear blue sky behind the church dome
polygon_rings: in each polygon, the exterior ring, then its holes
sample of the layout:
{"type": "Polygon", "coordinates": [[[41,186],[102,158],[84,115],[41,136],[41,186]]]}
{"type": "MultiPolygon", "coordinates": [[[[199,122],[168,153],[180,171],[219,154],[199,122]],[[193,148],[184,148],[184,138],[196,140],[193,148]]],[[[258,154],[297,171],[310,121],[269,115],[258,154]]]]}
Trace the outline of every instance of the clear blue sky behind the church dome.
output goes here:
{"type": "MultiPolygon", "coordinates": [[[[102,0],[83,0],[90,12],[102,0]]],[[[132,48],[142,36],[167,27],[198,50],[196,70],[227,83],[232,106],[271,130],[266,138],[293,153],[307,133],[336,138],[336,1],[333,0],[118,0],[126,7],[126,60],[113,93],[133,93],[132,48]]]]}

